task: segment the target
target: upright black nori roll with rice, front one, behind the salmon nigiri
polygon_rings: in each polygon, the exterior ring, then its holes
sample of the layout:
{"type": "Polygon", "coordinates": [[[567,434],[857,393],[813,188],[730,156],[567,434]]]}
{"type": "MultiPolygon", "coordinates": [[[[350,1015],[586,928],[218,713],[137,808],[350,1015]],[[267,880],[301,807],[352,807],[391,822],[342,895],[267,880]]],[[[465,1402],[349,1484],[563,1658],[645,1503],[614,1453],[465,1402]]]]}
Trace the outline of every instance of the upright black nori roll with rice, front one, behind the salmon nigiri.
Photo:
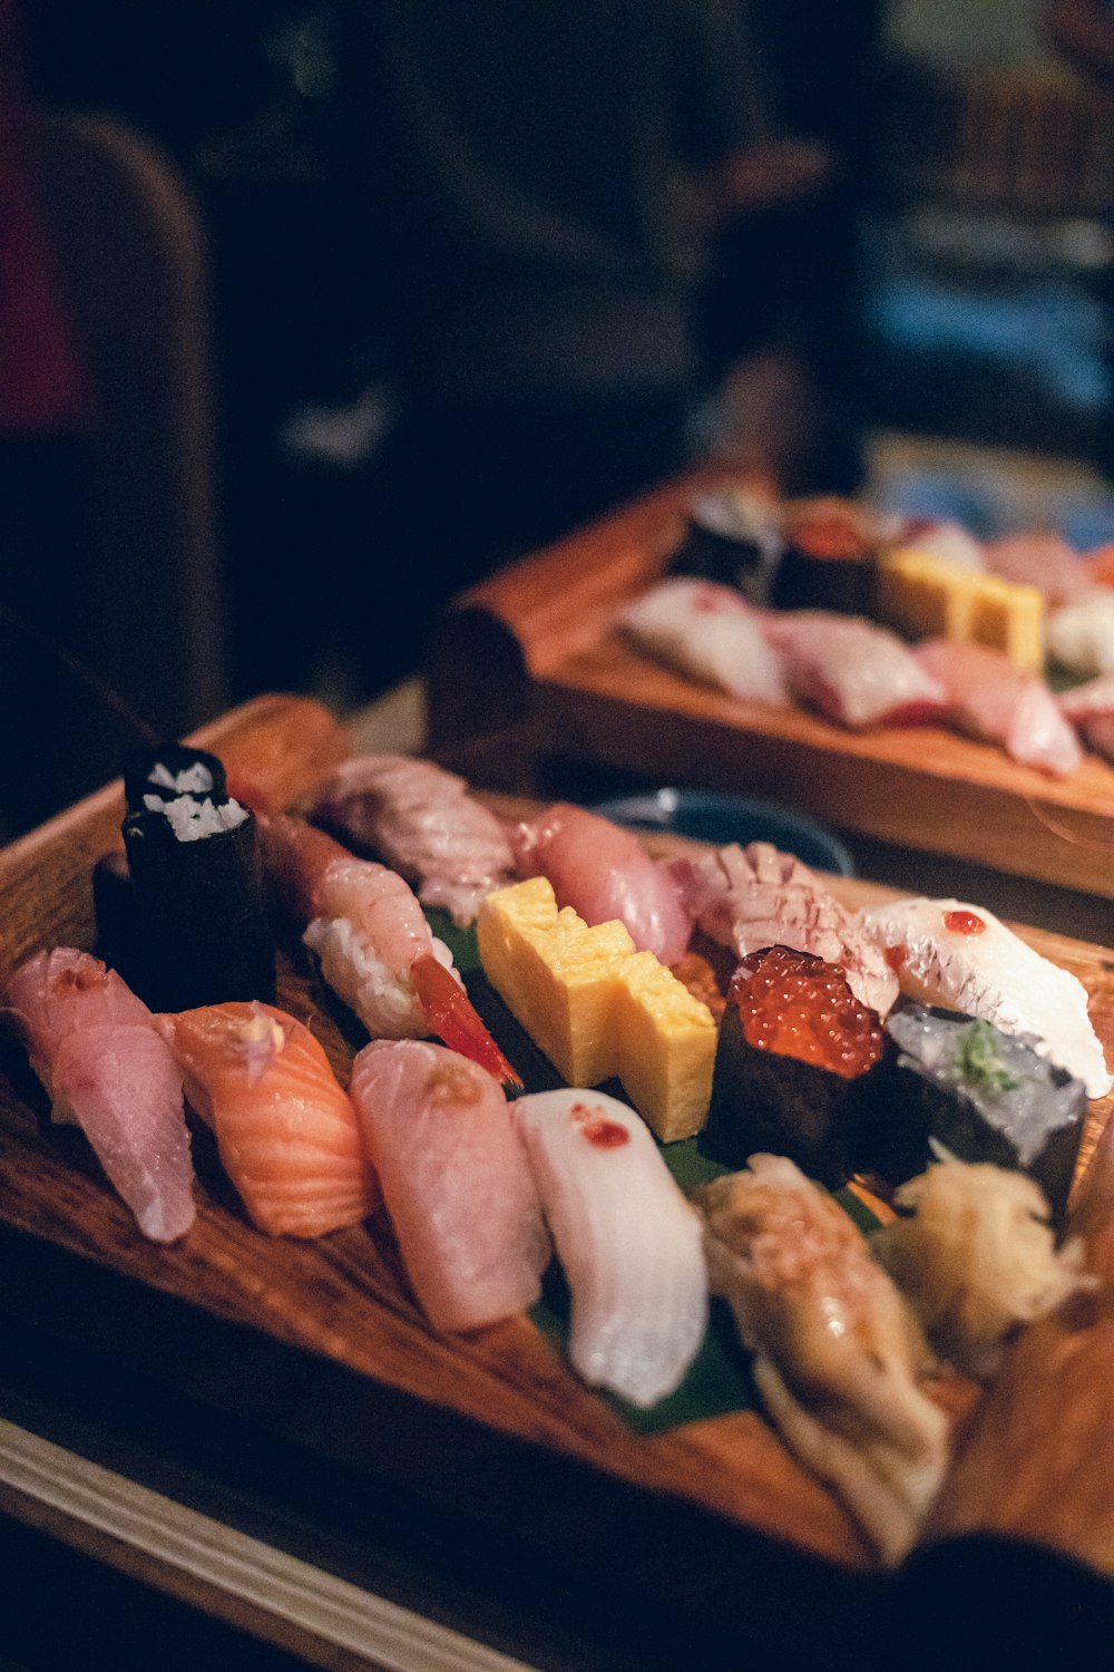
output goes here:
{"type": "Polygon", "coordinates": [[[124,821],[137,991],[152,1010],[274,1000],[256,821],[234,799],[145,791],[124,821]]]}

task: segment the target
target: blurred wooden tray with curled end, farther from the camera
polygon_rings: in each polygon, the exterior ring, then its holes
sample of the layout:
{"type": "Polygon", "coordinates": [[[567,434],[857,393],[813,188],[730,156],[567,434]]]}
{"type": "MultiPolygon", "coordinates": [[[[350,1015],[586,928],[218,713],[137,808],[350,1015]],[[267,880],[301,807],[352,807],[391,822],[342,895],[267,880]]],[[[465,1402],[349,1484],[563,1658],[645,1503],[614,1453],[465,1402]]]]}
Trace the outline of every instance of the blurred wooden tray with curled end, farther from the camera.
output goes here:
{"type": "Polygon", "coordinates": [[[518,716],[543,757],[768,796],[850,833],[1114,898],[1114,767],[1097,756],[1052,779],[939,726],[855,734],[723,696],[620,639],[616,612],[661,577],[695,492],[717,485],[722,473],[681,478],[463,594],[433,647],[434,747],[518,716]]]}

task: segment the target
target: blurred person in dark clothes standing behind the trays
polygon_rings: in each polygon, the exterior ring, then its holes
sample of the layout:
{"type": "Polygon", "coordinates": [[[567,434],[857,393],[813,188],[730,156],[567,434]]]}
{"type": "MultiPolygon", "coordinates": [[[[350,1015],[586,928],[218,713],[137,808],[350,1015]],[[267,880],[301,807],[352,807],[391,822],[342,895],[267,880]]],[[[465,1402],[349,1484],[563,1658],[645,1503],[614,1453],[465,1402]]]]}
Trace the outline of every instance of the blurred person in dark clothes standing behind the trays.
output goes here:
{"type": "Polygon", "coordinates": [[[827,159],[738,0],[366,0],[337,69],[399,390],[374,589],[428,614],[690,460],[710,236],[827,159]]]}

